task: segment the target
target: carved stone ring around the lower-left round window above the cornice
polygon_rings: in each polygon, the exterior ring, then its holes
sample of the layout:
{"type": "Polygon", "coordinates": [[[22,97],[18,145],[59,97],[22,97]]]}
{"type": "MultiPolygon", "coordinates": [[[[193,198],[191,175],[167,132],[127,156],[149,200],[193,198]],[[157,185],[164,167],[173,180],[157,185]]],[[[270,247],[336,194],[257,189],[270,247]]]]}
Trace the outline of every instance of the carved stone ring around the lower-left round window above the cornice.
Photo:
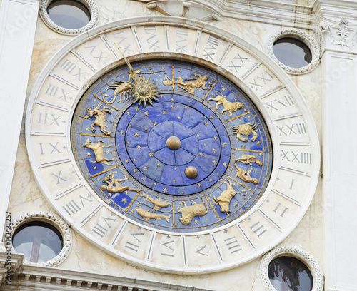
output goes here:
{"type": "Polygon", "coordinates": [[[28,260],[24,259],[24,263],[26,265],[47,266],[47,267],[59,265],[61,262],[63,262],[66,259],[67,255],[69,255],[69,251],[71,250],[72,247],[71,230],[69,229],[68,225],[66,225],[64,220],[62,220],[57,215],[54,215],[52,213],[46,213],[42,211],[24,213],[14,219],[11,225],[11,230],[12,230],[11,237],[14,235],[16,228],[19,228],[20,225],[23,225],[24,223],[29,223],[31,221],[42,221],[44,223],[49,223],[53,225],[61,233],[64,246],[62,247],[61,252],[59,252],[59,255],[56,255],[56,257],[54,257],[52,260],[35,263],[35,262],[29,262],[28,260]]]}

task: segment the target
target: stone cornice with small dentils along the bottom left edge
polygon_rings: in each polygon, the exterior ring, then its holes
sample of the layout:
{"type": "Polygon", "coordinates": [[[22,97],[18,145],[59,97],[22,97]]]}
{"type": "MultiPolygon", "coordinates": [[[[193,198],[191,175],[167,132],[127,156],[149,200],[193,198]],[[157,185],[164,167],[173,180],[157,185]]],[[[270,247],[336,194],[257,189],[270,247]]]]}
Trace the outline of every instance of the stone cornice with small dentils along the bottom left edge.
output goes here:
{"type": "Polygon", "coordinates": [[[0,287],[0,291],[5,290],[213,291],[165,282],[34,265],[24,265],[21,271],[14,274],[11,285],[0,287]]]}

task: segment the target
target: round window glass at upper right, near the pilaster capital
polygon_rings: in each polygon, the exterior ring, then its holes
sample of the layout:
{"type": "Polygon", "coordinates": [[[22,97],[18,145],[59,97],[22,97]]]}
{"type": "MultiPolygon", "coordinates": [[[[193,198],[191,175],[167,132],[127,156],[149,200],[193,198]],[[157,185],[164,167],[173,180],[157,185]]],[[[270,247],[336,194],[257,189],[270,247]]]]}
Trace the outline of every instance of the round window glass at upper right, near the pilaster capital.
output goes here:
{"type": "Polygon", "coordinates": [[[279,39],[273,44],[273,52],[281,63],[291,68],[302,68],[311,63],[310,49],[298,39],[279,39]]]}

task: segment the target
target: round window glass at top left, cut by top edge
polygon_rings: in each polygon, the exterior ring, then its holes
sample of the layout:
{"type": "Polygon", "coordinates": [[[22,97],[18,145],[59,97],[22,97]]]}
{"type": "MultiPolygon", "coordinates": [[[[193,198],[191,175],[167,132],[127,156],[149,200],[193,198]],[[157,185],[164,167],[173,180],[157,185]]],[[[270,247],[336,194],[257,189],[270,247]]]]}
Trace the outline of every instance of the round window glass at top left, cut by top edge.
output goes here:
{"type": "Polygon", "coordinates": [[[79,1],[54,0],[47,7],[49,18],[65,29],[80,29],[91,21],[91,14],[79,1]]]}

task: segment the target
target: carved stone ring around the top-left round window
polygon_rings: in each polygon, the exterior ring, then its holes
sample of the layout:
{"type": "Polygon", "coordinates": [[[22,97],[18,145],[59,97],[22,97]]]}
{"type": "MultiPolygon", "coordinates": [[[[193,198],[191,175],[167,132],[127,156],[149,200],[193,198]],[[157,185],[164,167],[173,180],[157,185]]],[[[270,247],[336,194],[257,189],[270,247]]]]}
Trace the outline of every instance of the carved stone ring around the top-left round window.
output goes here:
{"type": "Polygon", "coordinates": [[[91,14],[91,21],[89,21],[89,23],[86,26],[83,26],[80,29],[65,29],[64,27],[55,24],[54,21],[52,21],[49,18],[49,14],[47,13],[47,7],[51,3],[51,1],[53,0],[41,0],[41,7],[40,7],[41,19],[44,21],[46,26],[49,26],[50,29],[57,31],[60,34],[73,36],[76,34],[81,34],[82,32],[87,31],[93,28],[94,26],[96,26],[99,19],[99,12],[93,0],[78,0],[81,2],[81,4],[84,4],[89,9],[89,12],[91,14]]]}

